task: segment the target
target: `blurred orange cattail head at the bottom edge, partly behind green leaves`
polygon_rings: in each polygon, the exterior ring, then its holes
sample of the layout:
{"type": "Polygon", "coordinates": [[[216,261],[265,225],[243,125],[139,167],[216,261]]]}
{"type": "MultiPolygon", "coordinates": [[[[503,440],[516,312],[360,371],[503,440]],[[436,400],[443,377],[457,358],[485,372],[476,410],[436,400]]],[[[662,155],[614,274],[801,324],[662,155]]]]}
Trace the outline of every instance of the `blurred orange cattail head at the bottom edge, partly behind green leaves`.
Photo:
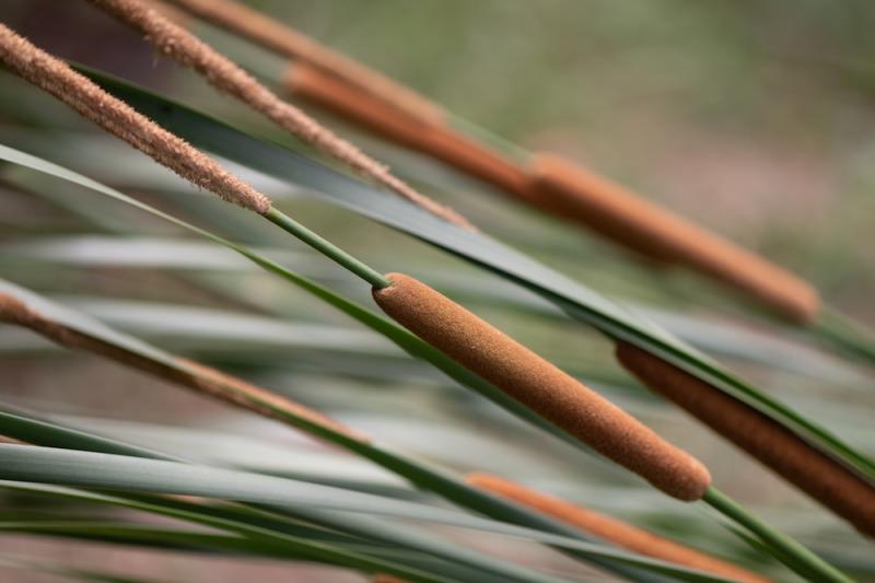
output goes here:
{"type": "Polygon", "coordinates": [[[529,506],[559,521],[646,557],[681,564],[708,573],[745,583],[765,583],[768,579],[740,567],[722,561],[674,540],[618,521],[605,514],[571,504],[556,497],[529,490],[524,486],[491,474],[475,473],[466,478],[468,483],[529,506]]]}

